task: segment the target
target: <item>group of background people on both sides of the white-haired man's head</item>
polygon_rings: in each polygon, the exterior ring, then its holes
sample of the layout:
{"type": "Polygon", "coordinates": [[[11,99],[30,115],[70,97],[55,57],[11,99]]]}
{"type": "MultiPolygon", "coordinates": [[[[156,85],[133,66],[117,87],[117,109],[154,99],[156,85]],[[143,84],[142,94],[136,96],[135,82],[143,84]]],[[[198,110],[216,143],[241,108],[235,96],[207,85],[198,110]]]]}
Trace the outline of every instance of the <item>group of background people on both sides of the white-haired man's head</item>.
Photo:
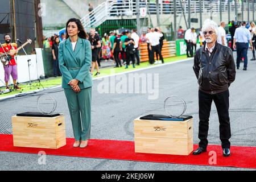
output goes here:
{"type": "MultiPolygon", "coordinates": [[[[243,70],[247,70],[247,49],[250,48],[253,51],[253,57],[251,61],[255,61],[255,49],[256,49],[256,26],[254,22],[229,22],[229,33],[231,39],[227,39],[226,34],[226,23],[224,21],[220,22],[220,26],[217,28],[217,42],[223,46],[229,46],[232,51],[237,51],[237,69],[240,67],[240,63],[244,63],[243,70]]],[[[195,28],[189,28],[187,31],[179,27],[177,31],[178,38],[183,38],[187,46],[187,57],[193,57],[193,54],[196,52],[197,42],[199,40],[200,46],[204,45],[205,38],[204,32],[199,31],[199,34],[196,33],[195,28]]]]}

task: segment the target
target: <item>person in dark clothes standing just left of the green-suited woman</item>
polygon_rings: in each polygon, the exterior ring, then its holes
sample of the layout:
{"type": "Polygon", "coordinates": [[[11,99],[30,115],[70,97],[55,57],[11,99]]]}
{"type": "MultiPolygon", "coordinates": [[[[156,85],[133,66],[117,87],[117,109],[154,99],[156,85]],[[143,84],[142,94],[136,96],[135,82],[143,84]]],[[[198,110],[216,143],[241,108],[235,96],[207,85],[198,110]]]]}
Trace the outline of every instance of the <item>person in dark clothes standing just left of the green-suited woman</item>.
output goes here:
{"type": "Polygon", "coordinates": [[[53,74],[54,77],[61,76],[59,68],[59,43],[60,38],[57,36],[52,44],[52,58],[53,58],[53,74]]]}

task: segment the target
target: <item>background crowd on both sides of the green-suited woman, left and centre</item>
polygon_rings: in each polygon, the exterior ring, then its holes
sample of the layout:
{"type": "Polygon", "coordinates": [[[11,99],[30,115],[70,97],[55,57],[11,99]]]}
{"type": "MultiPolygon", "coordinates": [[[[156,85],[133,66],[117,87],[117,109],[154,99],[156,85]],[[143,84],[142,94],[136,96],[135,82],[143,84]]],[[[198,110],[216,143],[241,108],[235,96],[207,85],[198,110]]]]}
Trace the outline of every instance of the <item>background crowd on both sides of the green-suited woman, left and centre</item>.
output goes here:
{"type": "MultiPolygon", "coordinates": [[[[88,40],[92,46],[92,68],[91,74],[96,69],[94,76],[100,75],[100,67],[102,61],[110,61],[115,68],[125,67],[135,68],[136,65],[141,64],[140,58],[140,44],[147,43],[149,64],[164,63],[162,56],[162,47],[164,34],[159,27],[147,28],[147,32],[142,32],[139,36],[137,30],[125,30],[122,32],[118,30],[110,31],[109,34],[105,33],[103,37],[91,28],[88,34],[88,40]],[[156,60],[155,60],[156,57],[156,60]]],[[[65,34],[61,36],[55,34],[50,38],[43,36],[44,48],[52,48],[52,61],[53,61],[53,75],[55,77],[61,76],[58,64],[58,47],[59,43],[65,40],[65,34]]]]}

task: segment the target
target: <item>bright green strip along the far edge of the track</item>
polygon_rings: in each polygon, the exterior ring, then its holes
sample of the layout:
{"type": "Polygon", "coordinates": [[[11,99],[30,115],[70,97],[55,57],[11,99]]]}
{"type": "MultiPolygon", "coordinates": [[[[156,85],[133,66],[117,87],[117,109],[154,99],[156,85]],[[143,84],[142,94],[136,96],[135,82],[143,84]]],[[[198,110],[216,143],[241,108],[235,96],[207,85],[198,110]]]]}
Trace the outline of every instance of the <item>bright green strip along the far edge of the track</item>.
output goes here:
{"type": "MultiPolygon", "coordinates": [[[[166,58],[166,59],[164,59],[164,63],[170,63],[170,62],[179,61],[179,60],[183,60],[183,59],[187,59],[187,56],[177,56],[177,57],[166,58]]],[[[151,67],[154,67],[154,66],[155,65],[152,65],[151,67]]],[[[113,67],[114,67],[114,65],[113,65],[113,67]]],[[[141,68],[146,68],[146,67],[148,67],[148,62],[141,63],[141,65],[136,66],[136,68],[133,68],[132,65],[130,65],[128,69],[125,69],[125,67],[122,67],[122,68],[102,68],[102,69],[100,69],[101,75],[98,76],[98,77],[102,77],[102,76],[106,76],[106,75],[114,75],[115,73],[123,73],[123,72],[133,71],[133,70],[136,70],[136,69],[141,69],[141,68]]],[[[94,74],[95,73],[96,73],[96,71],[94,71],[94,74]]],[[[56,78],[51,77],[51,78],[41,80],[41,84],[44,86],[44,88],[50,88],[50,87],[53,87],[53,86],[60,85],[61,84],[61,77],[56,77],[56,78]]],[[[30,85],[28,85],[28,83],[19,84],[19,87],[22,88],[21,93],[32,92],[34,90],[42,89],[42,86],[39,86],[38,81],[33,81],[32,82],[31,89],[30,89],[30,85]]],[[[5,87],[0,88],[0,90],[5,90],[5,87]]],[[[14,94],[19,94],[19,93],[20,93],[20,91],[14,91],[14,92],[6,93],[6,94],[0,94],[0,98],[1,97],[6,97],[6,96],[11,96],[11,95],[14,95],[14,94]]]]}

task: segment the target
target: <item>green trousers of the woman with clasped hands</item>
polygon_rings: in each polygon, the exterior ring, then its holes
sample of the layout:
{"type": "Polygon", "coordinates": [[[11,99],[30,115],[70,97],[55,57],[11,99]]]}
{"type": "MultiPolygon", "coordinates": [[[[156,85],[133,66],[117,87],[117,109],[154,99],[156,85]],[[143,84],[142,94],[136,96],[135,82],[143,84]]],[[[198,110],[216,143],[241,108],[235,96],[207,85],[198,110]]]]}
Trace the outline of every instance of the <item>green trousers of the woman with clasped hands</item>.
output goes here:
{"type": "Polygon", "coordinates": [[[92,87],[81,89],[79,93],[72,89],[64,89],[64,92],[76,141],[90,139],[92,87]]]}

